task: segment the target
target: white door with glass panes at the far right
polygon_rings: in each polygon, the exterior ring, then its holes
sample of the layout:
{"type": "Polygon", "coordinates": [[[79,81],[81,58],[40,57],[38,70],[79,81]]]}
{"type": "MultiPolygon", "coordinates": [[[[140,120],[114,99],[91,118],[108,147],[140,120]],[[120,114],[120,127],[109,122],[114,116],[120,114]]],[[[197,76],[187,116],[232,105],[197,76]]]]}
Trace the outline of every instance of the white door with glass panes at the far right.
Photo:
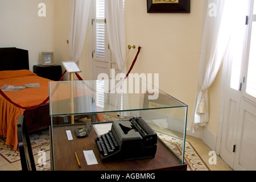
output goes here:
{"type": "Polygon", "coordinates": [[[256,170],[256,1],[247,2],[245,51],[224,64],[228,74],[220,156],[234,170],[256,170]]]}

